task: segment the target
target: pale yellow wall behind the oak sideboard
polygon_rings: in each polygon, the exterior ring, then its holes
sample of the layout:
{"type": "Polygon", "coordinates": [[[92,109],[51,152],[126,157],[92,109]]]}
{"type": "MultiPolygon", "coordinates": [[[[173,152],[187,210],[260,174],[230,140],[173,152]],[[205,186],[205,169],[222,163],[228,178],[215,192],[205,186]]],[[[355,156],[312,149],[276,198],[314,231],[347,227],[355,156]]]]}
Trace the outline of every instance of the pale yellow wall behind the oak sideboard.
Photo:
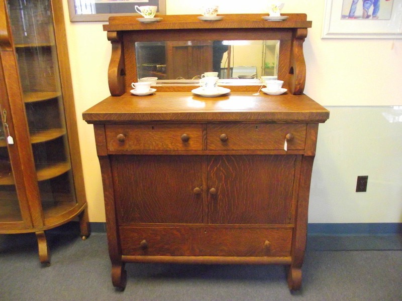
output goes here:
{"type": "MultiPolygon", "coordinates": [[[[70,23],[63,2],[89,219],[104,222],[93,128],[81,113],[109,96],[111,46],[104,23],[70,23]]],[[[267,0],[249,0],[247,7],[216,3],[222,14],[260,13],[267,0]]],[[[324,3],[287,0],[283,9],[306,13],[313,21],[304,44],[305,93],[331,110],[319,130],[309,221],[402,222],[402,40],[393,48],[387,39],[323,40],[324,3]],[[358,175],[369,176],[366,193],[354,192],[358,175]]],[[[199,14],[198,4],[166,0],[167,14],[199,14]]]]}

